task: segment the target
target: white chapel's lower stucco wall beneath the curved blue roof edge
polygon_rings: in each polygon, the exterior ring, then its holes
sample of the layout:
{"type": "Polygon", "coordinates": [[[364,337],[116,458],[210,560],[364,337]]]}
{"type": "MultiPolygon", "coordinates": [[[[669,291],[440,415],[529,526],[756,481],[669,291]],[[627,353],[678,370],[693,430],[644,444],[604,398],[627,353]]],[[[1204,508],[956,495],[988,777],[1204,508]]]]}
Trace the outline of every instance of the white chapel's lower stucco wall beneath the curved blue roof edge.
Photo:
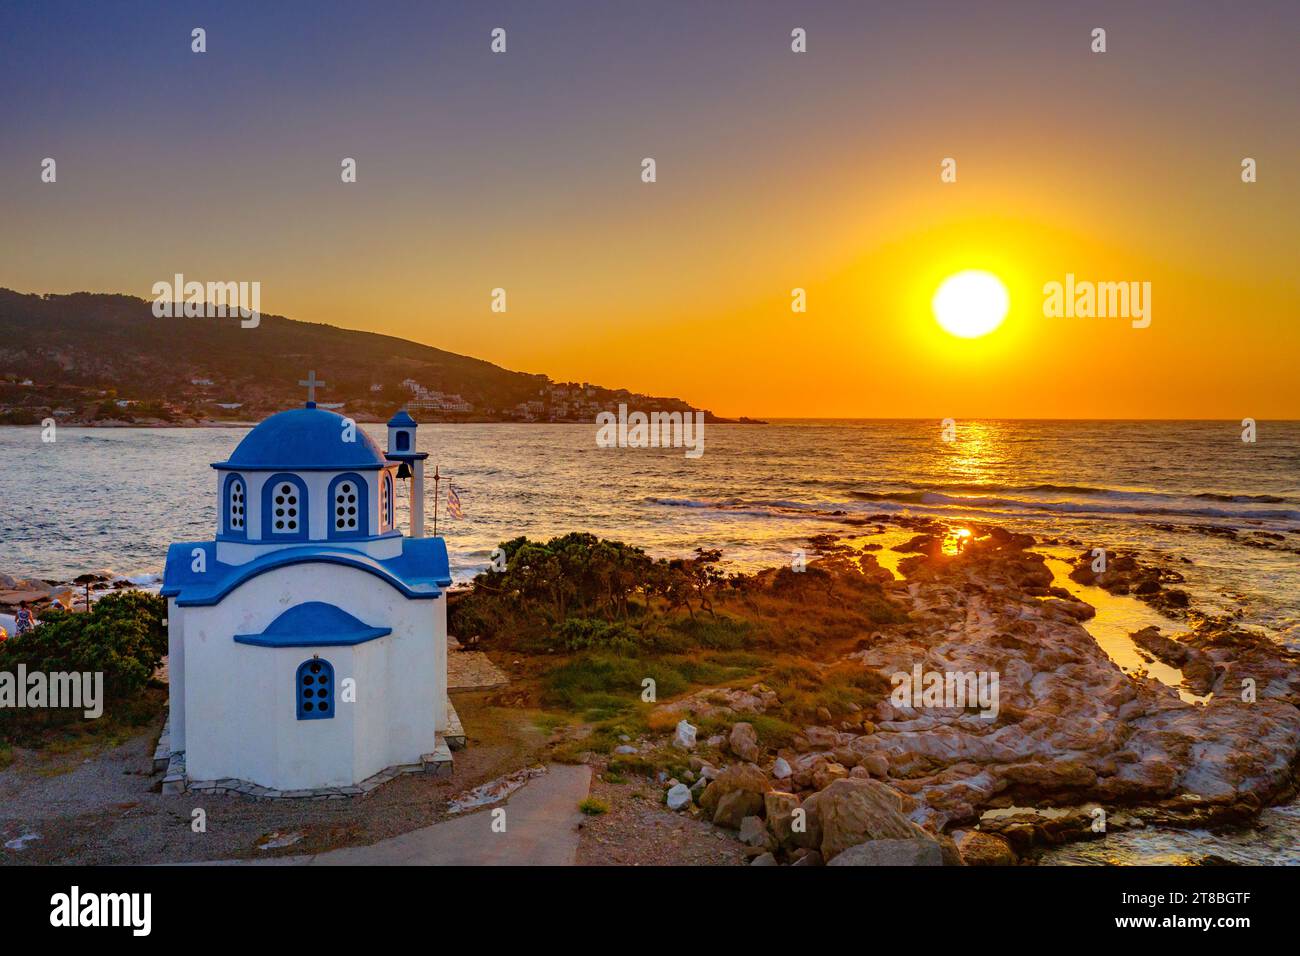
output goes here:
{"type": "MultiPolygon", "coordinates": [[[[176,613],[183,615],[190,779],[237,778],[276,790],[337,787],[395,763],[416,763],[433,750],[446,719],[445,597],[413,601],[364,571],[308,563],[254,578],[220,605],[176,613]],[[235,633],[261,632],[308,601],[337,605],[393,633],[354,648],[234,641],[235,633]],[[313,654],[334,666],[335,715],[299,721],[295,672],[313,654]],[[347,678],[356,682],[355,704],[342,701],[347,678]]],[[[173,671],[176,666],[173,657],[173,671]]]]}

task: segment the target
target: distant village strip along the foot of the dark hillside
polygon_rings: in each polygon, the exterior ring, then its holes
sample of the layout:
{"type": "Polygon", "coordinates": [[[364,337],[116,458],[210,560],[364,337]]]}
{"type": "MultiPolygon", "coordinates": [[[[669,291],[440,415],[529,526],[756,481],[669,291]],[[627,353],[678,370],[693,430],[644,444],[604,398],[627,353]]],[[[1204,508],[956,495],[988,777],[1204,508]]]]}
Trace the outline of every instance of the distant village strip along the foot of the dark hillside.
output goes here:
{"type": "MultiPolygon", "coordinates": [[[[429,388],[415,377],[398,385],[373,382],[369,392],[342,401],[318,401],[320,407],[358,421],[386,420],[404,406],[421,421],[594,421],[618,406],[650,411],[697,411],[675,398],[655,398],[606,389],[588,382],[554,382],[537,377],[537,397],[508,407],[474,406],[458,393],[429,388]]],[[[286,385],[289,385],[286,382],[286,385]]],[[[172,389],[176,392],[177,389],[172,389]]],[[[300,401],[294,389],[264,389],[247,384],[228,386],[214,377],[194,375],[182,394],[139,398],[112,388],[34,381],[16,372],[0,372],[0,425],[35,425],[46,419],[73,425],[188,425],[252,421],[300,401]]],[[[354,388],[355,392],[355,388],[354,388]]],[[[322,398],[329,395],[328,382],[322,398]]],[[[720,421],[711,412],[706,420],[720,421]]]]}

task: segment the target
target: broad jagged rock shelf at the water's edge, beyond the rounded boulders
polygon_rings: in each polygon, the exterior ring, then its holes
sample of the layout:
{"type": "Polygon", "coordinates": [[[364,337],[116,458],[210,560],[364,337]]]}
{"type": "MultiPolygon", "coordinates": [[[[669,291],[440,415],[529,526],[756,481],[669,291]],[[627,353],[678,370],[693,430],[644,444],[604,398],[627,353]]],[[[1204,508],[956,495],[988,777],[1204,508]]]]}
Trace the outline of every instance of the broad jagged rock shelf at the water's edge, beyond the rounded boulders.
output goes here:
{"type": "MultiPolygon", "coordinates": [[[[1092,583],[1092,555],[1084,554],[1071,576],[1092,583]]],[[[961,555],[911,557],[904,567],[909,617],[922,623],[887,628],[849,659],[884,675],[920,662],[927,671],[1000,679],[996,719],[972,708],[880,701],[875,732],[848,743],[862,754],[859,766],[885,770],[868,754],[887,760],[890,784],[920,804],[909,812],[914,819],[972,821],[994,801],[1013,800],[1147,804],[1183,819],[1184,797],[1193,796],[1197,818],[1232,818],[1287,792],[1284,767],[1300,756],[1300,661],[1291,652],[1218,622],[1197,623],[1179,641],[1148,641],[1161,653],[1186,646],[1183,676],[1193,691],[1213,682],[1209,704],[1191,706],[1170,687],[1123,674],[1079,615],[1056,604],[1063,598],[1041,555],[1018,544],[991,535],[961,555]],[[1188,675],[1188,663],[1201,658],[1209,666],[1193,665],[1188,675]],[[1260,675],[1254,704],[1236,698],[1251,672],[1260,675]]],[[[1112,589],[1124,593],[1144,580],[1160,583],[1158,593],[1176,583],[1131,555],[1112,555],[1112,589]]],[[[797,761],[794,769],[798,782],[797,761]]],[[[1049,839],[1060,830],[1053,821],[1030,827],[1049,839]]]]}

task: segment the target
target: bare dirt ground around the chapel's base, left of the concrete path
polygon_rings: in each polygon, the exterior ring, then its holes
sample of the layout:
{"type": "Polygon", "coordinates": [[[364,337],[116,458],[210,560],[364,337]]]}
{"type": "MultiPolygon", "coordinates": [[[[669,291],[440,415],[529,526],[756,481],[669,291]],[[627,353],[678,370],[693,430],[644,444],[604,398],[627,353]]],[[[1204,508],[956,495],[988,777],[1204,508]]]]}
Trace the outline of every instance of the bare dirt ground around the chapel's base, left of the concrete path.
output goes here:
{"type": "Polygon", "coordinates": [[[446,816],[450,797],[542,756],[550,732],[538,726],[537,711],[491,706],[488,696],[452,695],[469,745],[455,753],[451,778],[408,774],[352,800],[162,796],[162,775],[153,773],[156,727],[98,753],[16,747],[13,763],[0,771],[0,864],[265,858],[364,845],[428,826],[446,816]],[[196,809],[207,814],[204,832],[192,830],[196,809]],[[21,848],[3,845],[32,834],[21,848]],[[285,834],[302,839],[259,848],[285,834]]]}

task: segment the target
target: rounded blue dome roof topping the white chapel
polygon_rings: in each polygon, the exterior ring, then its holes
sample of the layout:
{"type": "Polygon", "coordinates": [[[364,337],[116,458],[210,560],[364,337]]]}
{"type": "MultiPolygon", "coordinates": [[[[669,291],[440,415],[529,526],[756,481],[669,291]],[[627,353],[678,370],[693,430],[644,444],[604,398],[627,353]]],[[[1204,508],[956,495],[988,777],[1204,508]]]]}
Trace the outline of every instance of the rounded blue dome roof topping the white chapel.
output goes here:
{"type": "Polygon", "coordinates": [[[254,428],[226,462],[214,468],[244,471],[373,471],[387,462],[370,436],[356,428],[356,441],[343,441],[343,421],[325,408],[291,408],[254,428]]]}

